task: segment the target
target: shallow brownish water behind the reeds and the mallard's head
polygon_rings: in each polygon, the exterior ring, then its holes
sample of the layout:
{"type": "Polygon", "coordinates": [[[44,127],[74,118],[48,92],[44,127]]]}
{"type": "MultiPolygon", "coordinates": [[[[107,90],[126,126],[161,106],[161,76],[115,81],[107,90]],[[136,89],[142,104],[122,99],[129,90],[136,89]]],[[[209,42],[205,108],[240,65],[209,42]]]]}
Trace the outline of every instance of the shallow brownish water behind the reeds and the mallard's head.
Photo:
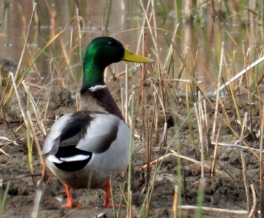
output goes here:
{"type": "MultiPolygon", "coordinates": [[[[26,33],[28,31],[29,21],[32,13],[31,1],[7,1],[8,5],[4,5],[4,1],[0,1],[0,57],[11,57],[16,62],[19,61],[21,52],[24,46],[26,33]]],[[[43,47],[49,40],[51,40],[57,33],[66,30],[58,37],[42,55],[38,58],[36,65],[29,71],[28,77],[34,82],[43,85],[45,79],[50,75],[50,67],[56,69],[57,72],[63,72],[69,69],[69,64],[66,64],[63,58],[62,48],[70,57],[70,66],[74,67],[72,77],[79,78],[82,68],[80,65],[82,55],[85,48],[92,38],[100,35],[114,36],[120,40],[124,45],[129,45],[133,51],[137,50],[137,42],[139,40],[142,19],[144,16],[140,1],[129,0],[112,0],[112,1],[84,1],[80,0],[79,15],[81,22],[81,31],[78,31],[77,18],[73,19],[73,24],[70,22],[74,15],[77,15],[77,10],[74,1],[37,1],[36,17],[33,19],[32,29],[30,32],[29,49],[22,62],[22,69],[26,68],[29,61],[35,56],[35,53],[40,47],[43,47]],[[38,23],[36,22],[38,19],[38,23]],[[71,41],[72,34],[72,41],[71,41]],[[78,36],[81,38],[78,38],[78,36]],[[70,46],[73,48],[81,41],[81,46],[76,47],[70,52],[70,46]],[[28,52],[29,50],[29,52],[28,52]],[[50,66],[50,61],[53,61],[50,66]]],[[[147,1],[143,1],[144,7],[147,6],[147,1]]],[[[217,7],[217,6],[216,6],[217,7]]],[[[151,7],[150,7],[151,8],[151,7]]],[[[150,10],[148,11],[150,16],[150,10]]],[[[241,12],[245,13],[245,12],[241,12]]],[[[245,13],[245,16],[247,14],[245,13]]],[[[225,33],[224,28],[230,33],[231,37],[242,48],[242,41],[245,40],[245,50],[249,49],[249,62],[253,62],[255,55],[260,53],[262,46],[259,46],[259,39],[255,39],[254,35],[260,30],[257,28],[257,21],[254,18],[249,19],[248,26],[242,26],[241,21],[234,18],[229,18],[229,23],[213,22],[209,16],[206,5],[199,11],[201,21],[194,21],[192,23],[181,22],[177,31],[177,40],[174,44],[174,65],[170,69],[170,78],[177,79],[178,72],[183,65],[182,58],[188,55],[186,64],[190,72],[194,72],[197,81],[203,91],[206,91],[211,86],[211,81],[215,81],[218,76],[218,68],[215,64],[214,58],[209,50],[213,48],[213,52],[219,65],[221,41],[225,42],[225,54],[227,64],[230,67],[231,73],[236,74],[243,69],[243,55],[241,51],[235,49],[235,44],[230,37],[225,33]],[[202,31],[204,28],[204,37],[202,31]],[[220,29],[218,29],[220,27],[220,29]],[[217,33],[219,31],[219,34],[217,33]],[[250,35],[249,39],[247,35],[250,35]],[[232,53],[236,50],[236,58],[232,64],[232,53]],[[198,51],[198,52],[197,52],[198,51]],[[194,64],[194,59],[197,59],[194,64]],[[192,59],[192,60],[191,60],[192,59]],[[233,67],[232,67],[233,66],[233,67]],[[209,79],[210,76],[210,79],[209,79]]],[[[165,62],[165,56],[172,38],[172,33],[176,25],[179,23],[177,13],[175,11],[174,1],[155,1],[155,18],[157,26],[157,45],[158,55],[161,64],[165,62]],[[169,37],[166,36],[169,33],[169,37]]],[[[198,19],[197,19],[198,20],[198,19]]],[[[150,23],[154,26],[153,21],[150,23]]],[[[145,25],[147,27],[147,25],[145,25]]],[[[147,33],[147,29],[145,33],[147,33]]],[[[153,31],[155,34],[155,31],[153,31]]],[[[153,53],[154,45],[148,32],[147,52],[156,61],[157,58],[153,53]]],[[[141,46],[139,46],[141,50],[141,46]]],[[[155,49],[154,49],[155,51],[155,49]]],[[[141,54],[141,51],[138,51],[141,54]]],[[[121,65],[123,66],[123,65],[121,65]]],[[[122,67],[121,67],[122,69],[122,67]]],[[[225,74],[225,72],[223,72],[225,74]]],[[[182,72],[181,79],[185,79],[186,71],[182,72]]],[[[189,76],[187,75],[189,78],[189,76]]],[[[78,81],[78,79],[77,79],[78,81]]],[[[180,88],[185,88],[185,84],[180,82],[180,88]]]]}

